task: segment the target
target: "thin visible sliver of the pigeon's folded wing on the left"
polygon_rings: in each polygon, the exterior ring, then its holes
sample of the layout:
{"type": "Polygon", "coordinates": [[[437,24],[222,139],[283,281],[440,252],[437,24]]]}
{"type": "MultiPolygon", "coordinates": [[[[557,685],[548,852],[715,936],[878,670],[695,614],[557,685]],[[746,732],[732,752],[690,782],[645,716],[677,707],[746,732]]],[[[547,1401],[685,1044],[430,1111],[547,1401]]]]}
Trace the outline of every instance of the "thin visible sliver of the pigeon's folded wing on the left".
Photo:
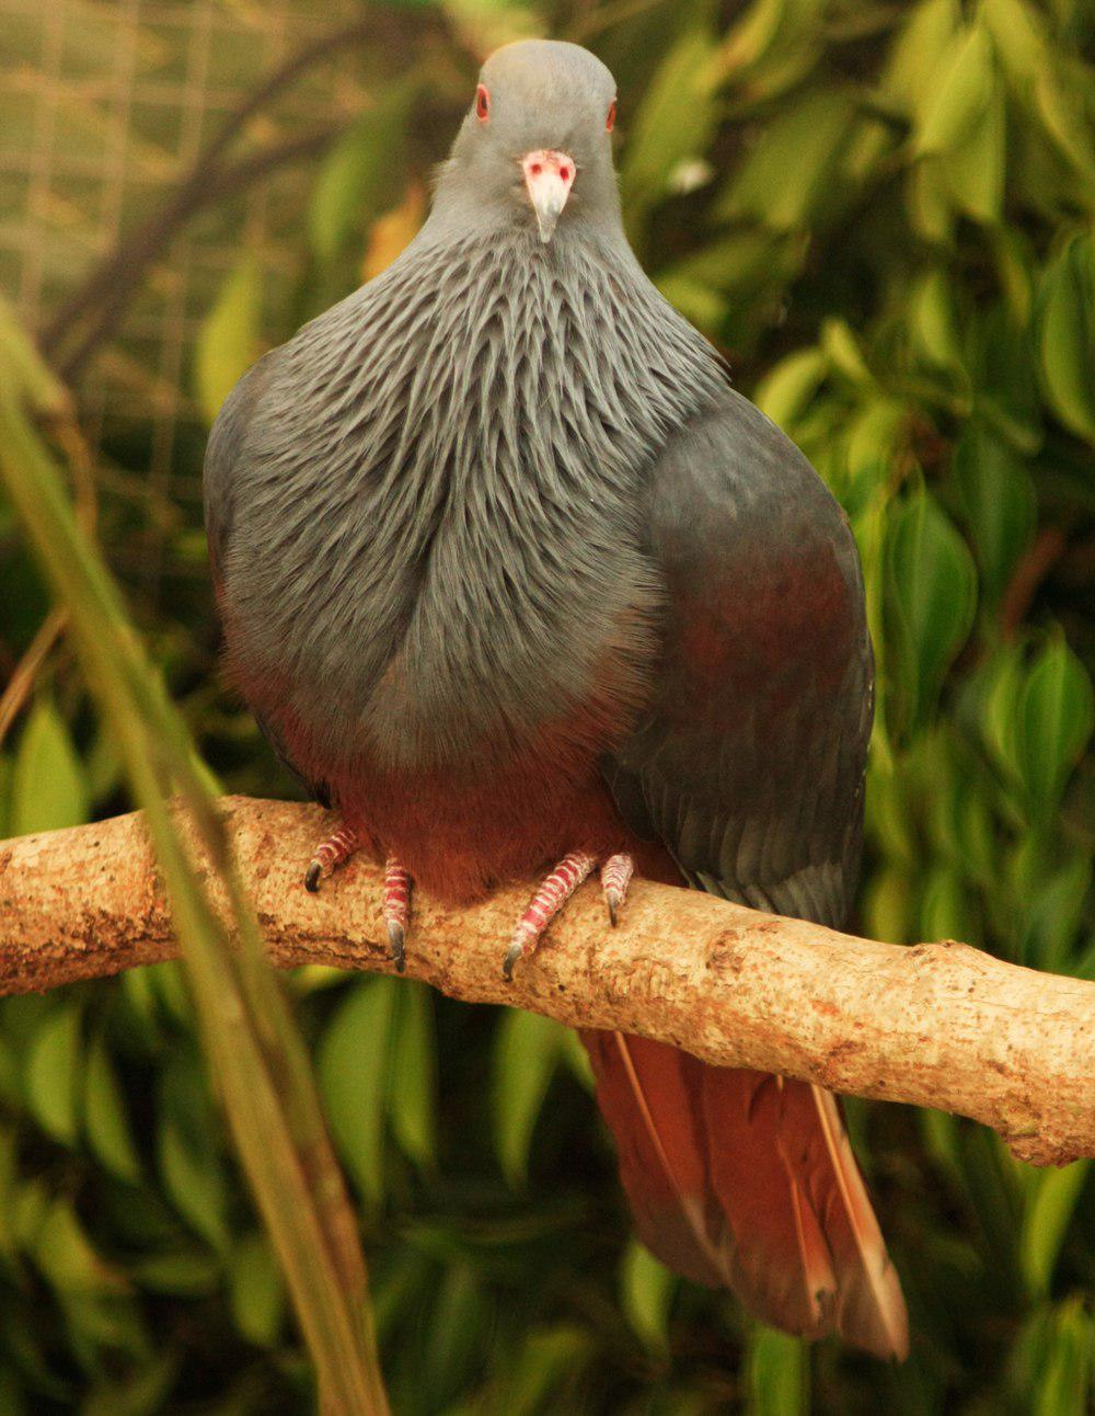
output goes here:
{"type": "MultiPolygon", "coordinates": [[[[236,470],[245,455],[252,415],[270,382],[270,375],[274,371],[279,355],[280,350],[272,350],[241,378],[216,415],[216,422],[209,433],[209,442],[205,446],[205,464],[202,469],[205,539],[209,545],[209,569],[222,616],[225,609],[222,595],[224,566],[232,544],[233,503],[241,481],[236,470]]],[[[255,712],[253,707],[252,712],[255,712]]],[[[259,712],[255,712],[255,721],[259,724],[263,736],[273,748],[279,760],[311,796],[324,806],[330,806],[330,793],[325,784],[323,782],[310,782],[297,769],[273,725],[259,712]]]]}

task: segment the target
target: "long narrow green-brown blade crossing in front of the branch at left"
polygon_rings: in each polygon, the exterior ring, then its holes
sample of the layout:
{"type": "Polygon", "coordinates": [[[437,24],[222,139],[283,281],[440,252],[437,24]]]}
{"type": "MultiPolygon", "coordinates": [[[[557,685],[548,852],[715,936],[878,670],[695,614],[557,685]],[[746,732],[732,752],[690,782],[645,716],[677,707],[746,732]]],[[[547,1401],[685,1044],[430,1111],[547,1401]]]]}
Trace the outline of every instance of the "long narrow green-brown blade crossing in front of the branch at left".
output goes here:
{"type": "MultiPolygon", "coordinates": [[[[116,733],[133,794],[144,810],[198,1000],[202,1041],[284,1267],[323,1399],[341,1410],[381,1409],[383,1383],[365,1269],[303,1039],[232,867],[224,823],[194,770],[185,725],[151,673],[98,549],[76,524],[52,450],[27,418],[27,379],[11,378],[13,370],[18,375],[20,360],[34,365],[37,354],[23,340],[13,360],[11,343],[10,329],[0,330],[0,476],[68,612],[69,643],[116,733]],[[175,792],[173,803],[167,790],[175,792]],[[192,831],[188,840],[184,821],[192,831]],[[195,840],[219,875],[215,896],[208,868],[197,869],[195,840]]],[[[130,1307],[130,1328],[134,1311],[130,1307]]],[[[76,1334],[74,1314],[66,1318],[74,1342],[81,1342],[78,1359],[98,1359],[95,1344],[76,1334]]],[[[127,1334],[115,1338],[122,1340],[120,1355],[132,1351],[127,1334]]]]}

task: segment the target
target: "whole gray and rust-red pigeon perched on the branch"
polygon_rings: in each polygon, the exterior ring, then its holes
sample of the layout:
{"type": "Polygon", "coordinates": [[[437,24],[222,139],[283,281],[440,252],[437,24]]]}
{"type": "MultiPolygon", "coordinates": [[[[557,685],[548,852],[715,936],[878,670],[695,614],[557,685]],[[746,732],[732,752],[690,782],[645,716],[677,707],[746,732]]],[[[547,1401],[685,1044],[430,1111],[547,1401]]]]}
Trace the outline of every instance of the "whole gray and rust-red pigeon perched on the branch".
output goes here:
{"type": "MultiPolygon", "coordinates": [[[[611,920],[637,871],[838,926],[873,714],[847,520],[632,253],[604,64],[509,44],[468,99],[417,236],[260,358],[209,436],[232,681],[337,813],[304,884],[383,861],[398,967],[416,888],[540,879],[506,976],[590,875],[611,920]]],[[[904,1357],[832,1095],[583,1041],[654,1255],[789,1332],[904,1357]]]]}

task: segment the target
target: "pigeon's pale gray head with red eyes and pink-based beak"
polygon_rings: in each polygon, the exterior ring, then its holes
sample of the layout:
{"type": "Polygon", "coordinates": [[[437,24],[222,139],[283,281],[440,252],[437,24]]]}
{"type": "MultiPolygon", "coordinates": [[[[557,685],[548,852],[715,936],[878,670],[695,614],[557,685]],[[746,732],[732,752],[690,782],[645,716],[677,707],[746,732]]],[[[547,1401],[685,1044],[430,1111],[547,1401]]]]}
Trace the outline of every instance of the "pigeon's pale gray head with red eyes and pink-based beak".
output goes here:
{"type": "Polygon", "coordinates": [[[484,64],[439,184],[480,222],[525,224],[549,242],[560,221],[615,214],[615,81],[577,44],[521,40],[484,64]]]}

